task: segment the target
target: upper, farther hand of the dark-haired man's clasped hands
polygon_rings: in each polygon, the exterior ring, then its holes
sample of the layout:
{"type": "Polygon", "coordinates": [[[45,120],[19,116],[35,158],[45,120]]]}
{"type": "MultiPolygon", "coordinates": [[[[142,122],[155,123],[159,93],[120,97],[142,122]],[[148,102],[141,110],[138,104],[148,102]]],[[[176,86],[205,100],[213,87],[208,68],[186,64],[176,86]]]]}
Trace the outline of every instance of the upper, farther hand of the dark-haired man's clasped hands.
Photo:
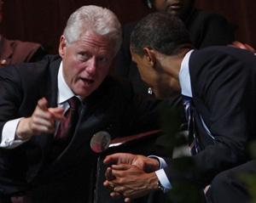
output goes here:
{"type": "Polygon", "coordinates": [[[108,155],[103,161],[105,164],[130,164],[137,166],[144,172],[154,172],[159,169],[159,162],[156,159],[144,155],[132,155],[129,153],[116,153],[108,155]]]}

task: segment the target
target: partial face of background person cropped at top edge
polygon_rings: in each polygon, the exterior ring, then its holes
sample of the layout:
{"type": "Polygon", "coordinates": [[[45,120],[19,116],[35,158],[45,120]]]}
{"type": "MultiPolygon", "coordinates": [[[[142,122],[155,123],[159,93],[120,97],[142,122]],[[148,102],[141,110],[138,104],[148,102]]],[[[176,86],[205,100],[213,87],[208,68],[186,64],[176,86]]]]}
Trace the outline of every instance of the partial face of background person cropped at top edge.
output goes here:
{"type": "Polygon", "coordinates": [[[195,0],[154,0],[154,8],[182,17],[189,13],[194,3],[195,0]]]}

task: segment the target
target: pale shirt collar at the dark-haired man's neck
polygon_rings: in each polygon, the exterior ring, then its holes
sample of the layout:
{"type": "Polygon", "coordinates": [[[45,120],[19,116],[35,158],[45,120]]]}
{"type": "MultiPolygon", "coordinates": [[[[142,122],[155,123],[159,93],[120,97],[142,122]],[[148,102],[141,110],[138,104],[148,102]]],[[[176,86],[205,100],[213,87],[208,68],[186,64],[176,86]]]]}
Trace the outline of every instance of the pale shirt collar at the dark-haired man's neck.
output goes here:
{"type": "Polygon", "coordinates": [[[187,54],[185,54],[183,61],[181,63],[181,69],[178,74],[181,92],[184,96],[193,97],[191,90],[191,81],[189,75],[189,58],[190,55],[194,52],[194,49],[191,49],[187,54]]]}

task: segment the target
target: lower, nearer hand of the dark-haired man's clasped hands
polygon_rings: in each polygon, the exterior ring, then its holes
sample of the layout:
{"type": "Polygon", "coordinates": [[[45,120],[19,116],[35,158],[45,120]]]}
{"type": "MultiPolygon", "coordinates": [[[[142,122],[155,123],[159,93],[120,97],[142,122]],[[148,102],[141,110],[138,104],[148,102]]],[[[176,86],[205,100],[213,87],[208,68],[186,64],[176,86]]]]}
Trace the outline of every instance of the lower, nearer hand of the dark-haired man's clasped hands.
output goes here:
{"type": "Polygon", "coordinates": [[[125,202],[158,189],[158,178],[154,172],[147,173],[137,166],[125,164],[113,165],[108,170],[112,171],[114,178],[106,180],[104,186],[113,189],[112,197],[124,196],[125,202]]]}

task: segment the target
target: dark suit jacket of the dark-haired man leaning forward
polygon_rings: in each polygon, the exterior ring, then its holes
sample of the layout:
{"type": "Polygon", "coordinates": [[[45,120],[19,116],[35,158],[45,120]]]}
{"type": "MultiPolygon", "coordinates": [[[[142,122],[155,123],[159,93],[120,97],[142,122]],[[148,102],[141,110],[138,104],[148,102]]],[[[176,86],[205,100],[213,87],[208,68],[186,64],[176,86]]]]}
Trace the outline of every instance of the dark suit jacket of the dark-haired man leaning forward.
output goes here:
{"type": "Polygon", "coordinates": [[[191,54],[189,73],[203,150],[186,158],[194,168],[179,170],[181,160],[177,159],[168,160],[165,171],[174,186],[176,180],[205,186],[218,172],[250,159],[247,146],[255,138],[256,57],[238,48],[204,48],[191,54]]]}

